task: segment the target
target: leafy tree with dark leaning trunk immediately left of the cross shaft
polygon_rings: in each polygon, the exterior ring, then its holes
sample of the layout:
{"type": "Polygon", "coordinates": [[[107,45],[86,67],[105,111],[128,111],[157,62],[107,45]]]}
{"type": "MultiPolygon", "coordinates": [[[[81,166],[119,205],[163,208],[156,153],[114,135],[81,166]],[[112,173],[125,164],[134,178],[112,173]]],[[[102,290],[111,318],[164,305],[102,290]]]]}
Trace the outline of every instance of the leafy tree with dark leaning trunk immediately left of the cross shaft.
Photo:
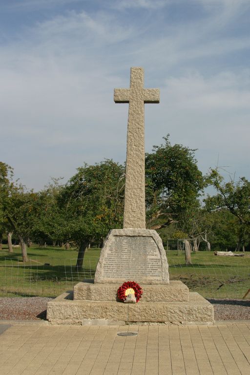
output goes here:
{"type": "Polygon", "coordinates": [[[59,201],[65,215],[62,234],[77,244],[76,267],[81,269],[88,244],[102,241],[110,229],[122,226],[125,168],[105,160],[77,170],[63,187],[59,201]]]}

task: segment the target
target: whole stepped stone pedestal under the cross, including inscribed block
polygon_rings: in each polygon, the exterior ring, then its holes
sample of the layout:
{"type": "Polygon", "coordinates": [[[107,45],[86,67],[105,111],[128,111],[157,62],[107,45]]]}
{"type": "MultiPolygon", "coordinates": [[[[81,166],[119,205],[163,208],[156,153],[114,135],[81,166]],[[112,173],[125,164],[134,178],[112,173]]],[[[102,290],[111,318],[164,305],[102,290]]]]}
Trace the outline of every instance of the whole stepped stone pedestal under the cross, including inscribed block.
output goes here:
{"type": "Polygon", "coordinates": [[[212,324],[213,306],[181,281],[170,281],[166,252],[155,230],[113,229],[108,234],[95,279],[74,286],[48,302],[47,319],[54,324],[212,324]],[[143,294],[136,304],[117,297],[125,281],[135,281],[143,294]]]}

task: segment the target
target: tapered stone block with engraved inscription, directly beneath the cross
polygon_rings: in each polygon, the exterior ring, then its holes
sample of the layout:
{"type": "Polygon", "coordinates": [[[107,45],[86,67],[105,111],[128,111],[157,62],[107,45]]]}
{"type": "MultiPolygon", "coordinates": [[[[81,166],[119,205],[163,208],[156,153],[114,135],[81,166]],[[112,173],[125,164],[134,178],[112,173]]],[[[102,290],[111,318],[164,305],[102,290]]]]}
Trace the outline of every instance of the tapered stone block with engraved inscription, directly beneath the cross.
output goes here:
{"type": "Polygon", "coordinates": [[[112,229],[101,251],[95,283],[168,284],[168,264],[155,230],[112,229]]]}

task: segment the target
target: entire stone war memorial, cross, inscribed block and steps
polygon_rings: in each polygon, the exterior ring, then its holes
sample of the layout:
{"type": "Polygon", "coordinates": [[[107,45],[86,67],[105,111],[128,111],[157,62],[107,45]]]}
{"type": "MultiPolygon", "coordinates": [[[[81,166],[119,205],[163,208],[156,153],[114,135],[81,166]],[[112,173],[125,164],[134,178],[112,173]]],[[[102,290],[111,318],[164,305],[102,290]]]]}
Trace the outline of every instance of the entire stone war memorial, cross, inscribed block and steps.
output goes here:
{"type": "Polygon", "coordinates": [[[48,302],[47,319],[66,324],[129,322],[212,324],[213,307],[181,281],[170,281],[166,252],[155,230],[146,229],[144,104],[159,103],[160,92],[144,88],[144,69],[132,67],[130,88],[114,90],[115,103],[128,103],[124,228],[104,241],[95,279],[85,280],[48,302]],[[138,303],[125,304],[117,291],[134,281],[138,303]]]}

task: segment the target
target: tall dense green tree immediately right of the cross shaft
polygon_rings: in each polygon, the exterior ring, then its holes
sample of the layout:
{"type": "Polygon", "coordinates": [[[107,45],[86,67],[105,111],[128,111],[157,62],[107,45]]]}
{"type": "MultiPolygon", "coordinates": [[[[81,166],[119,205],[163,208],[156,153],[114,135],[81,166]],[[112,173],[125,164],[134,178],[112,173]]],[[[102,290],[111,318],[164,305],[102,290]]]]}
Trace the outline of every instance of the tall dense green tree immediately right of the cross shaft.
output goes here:
{"type": "MultiPolygon", "coordinates": [[[[146,153],[146,210],[148,221],[161,220],[159,229],[178,220],[192,207],[205,186],[205,179],[197,167],[194,149],[182,145],[171,146],[169,135],[165,144],[154,146],[146,153]]],[[[154,227],[152,227],[154,228],[154,227]]]]}

